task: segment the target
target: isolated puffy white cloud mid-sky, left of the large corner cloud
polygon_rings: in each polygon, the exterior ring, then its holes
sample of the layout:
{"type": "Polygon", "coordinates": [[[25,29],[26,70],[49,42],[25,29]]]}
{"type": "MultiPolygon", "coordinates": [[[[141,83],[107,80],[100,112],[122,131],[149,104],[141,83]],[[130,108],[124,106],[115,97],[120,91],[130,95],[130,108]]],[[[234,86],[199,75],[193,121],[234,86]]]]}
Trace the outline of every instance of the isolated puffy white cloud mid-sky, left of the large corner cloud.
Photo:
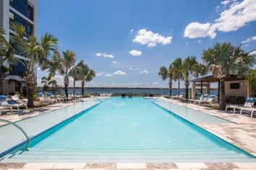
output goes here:
{"type": "Polygon", "coordinates": [[[138,42],[142,45],[148,45],[148,47],[155,47],[156,44],[167,45],[171,43],[172,37],[164,37],[158,33],[148,31],[146,29],[139,30],[133,42],[138,42]]]}

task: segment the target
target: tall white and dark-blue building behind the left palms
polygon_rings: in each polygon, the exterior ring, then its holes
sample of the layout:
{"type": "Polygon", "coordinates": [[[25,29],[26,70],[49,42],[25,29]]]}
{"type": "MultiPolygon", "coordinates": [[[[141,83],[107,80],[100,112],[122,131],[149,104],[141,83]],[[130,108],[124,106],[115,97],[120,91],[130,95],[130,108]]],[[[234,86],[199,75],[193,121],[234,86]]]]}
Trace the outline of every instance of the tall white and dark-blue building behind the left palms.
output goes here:
{"type": "MultiPolygon", "coordinates": [[[[37,0],[0,0],[0,26],[6,31],[7,40],[12,35],[10,29],[12,22],[19,22],[24,25],[27,35],[36,35],[37,11],[37,0]]],[[[15,54],[15,57],[20,58],[23,63],[26,62],[20,55],[15,54]]],[[[3,91],[0,89],[0,94],[9,94],[15,91],[24,93],[26,88],[22,76],[26,70],[25,66],[21,62],[14,66],[5,63],[5,66],[12,68],[12,71],[4,78],[3,91]]]]}

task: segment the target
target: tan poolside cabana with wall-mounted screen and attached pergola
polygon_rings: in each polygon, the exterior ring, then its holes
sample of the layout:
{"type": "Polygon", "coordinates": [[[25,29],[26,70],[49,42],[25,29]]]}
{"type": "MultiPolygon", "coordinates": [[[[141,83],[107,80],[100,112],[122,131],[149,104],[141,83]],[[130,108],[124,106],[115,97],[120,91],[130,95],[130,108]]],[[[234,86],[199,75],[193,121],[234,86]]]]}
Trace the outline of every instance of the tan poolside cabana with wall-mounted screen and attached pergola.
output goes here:
{"type": "MultiPolygon", "coordinates": [[[[202,94],[202,87],[206,88],[206,93],[210,94],[210,84],[218,83],[217,87],[217,96],[218,101],[220,102],[220,81],[219,79],[213,76],[205,76],[200,77],[197,79],[192,79],[192,94],[191,98],[196,98],[196,88],[200,86],[200,93],[202,94]]],[[[239,78],[236,75],[228,75],[225,78],[225,94],[226,98],[229,99],[230,97],[252,97],[251,87],[248,84],[248,81],[244,78],[239,78]]]]}

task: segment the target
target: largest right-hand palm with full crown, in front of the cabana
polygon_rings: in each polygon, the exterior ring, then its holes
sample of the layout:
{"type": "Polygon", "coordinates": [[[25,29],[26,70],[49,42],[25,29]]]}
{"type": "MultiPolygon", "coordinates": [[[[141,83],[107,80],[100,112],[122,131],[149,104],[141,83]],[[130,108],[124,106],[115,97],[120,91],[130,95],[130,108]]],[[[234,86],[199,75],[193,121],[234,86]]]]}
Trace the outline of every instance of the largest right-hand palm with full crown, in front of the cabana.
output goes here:
{"type": "Polygon", "coordinates": [[[255,55],[246,53],[241,45],[234,47],[230,42],[216,42],[213,48],[202,51],[202,60],[213,77],[220,81],[220,109],[226,109],[225,78],[230,74],[247,76],[255,65],[255,55]]]}

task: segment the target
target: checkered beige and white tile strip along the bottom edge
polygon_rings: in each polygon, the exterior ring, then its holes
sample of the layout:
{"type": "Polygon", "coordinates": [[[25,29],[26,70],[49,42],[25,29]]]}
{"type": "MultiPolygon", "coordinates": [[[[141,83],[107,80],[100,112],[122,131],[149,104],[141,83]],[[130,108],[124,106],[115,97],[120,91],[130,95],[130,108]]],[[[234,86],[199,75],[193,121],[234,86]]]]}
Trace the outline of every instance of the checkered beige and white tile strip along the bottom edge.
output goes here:
{"type": "Polygon", "coordinates": [[[255,163],[37,163],[37,164],[0,164],[0,169],[256,169],[255,163]]]}

